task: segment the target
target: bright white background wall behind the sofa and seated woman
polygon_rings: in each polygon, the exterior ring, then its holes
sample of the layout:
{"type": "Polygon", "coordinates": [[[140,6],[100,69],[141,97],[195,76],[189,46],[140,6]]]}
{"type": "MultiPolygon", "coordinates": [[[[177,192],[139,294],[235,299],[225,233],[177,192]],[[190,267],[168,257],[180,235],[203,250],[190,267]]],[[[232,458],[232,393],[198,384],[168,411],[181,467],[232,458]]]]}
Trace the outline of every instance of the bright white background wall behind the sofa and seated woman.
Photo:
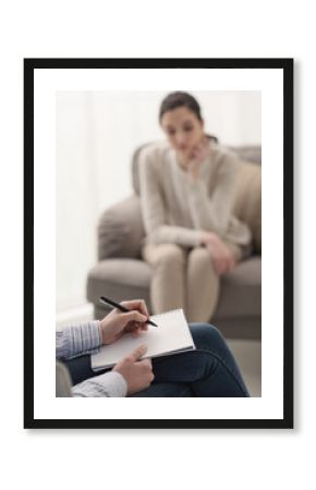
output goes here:
{"type": "MultiPolygon", "coordinates": [[[[260,143],[259,91],[192,91],[206,130],[228,145],[260,143]]],[[[57,322],[89,315],[87,271],[97,255],[102,210],[132,192],[134,149],[162,138],[165,93],[60,91],[57,95],[57,322]],[[80,308],[84,307],[80,311],[80,308]]]]}

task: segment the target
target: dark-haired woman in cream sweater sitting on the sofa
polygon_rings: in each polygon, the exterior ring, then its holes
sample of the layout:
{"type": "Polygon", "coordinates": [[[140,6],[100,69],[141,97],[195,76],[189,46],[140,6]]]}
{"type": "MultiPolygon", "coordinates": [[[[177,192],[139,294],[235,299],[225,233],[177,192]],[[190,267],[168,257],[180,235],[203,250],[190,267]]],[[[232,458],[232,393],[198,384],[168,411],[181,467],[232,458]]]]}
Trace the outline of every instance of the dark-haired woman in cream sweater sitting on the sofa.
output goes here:
{"type": "Polygon", "coordinates": [[[159,121],[167,142],[139,155],[151,306],[154,314],[182,307],[189,321],[207,322],[220,275],[250,253],[250,229],[232,216],[238,161],[206,135],[190,94],[169,94],[159,121]]]}

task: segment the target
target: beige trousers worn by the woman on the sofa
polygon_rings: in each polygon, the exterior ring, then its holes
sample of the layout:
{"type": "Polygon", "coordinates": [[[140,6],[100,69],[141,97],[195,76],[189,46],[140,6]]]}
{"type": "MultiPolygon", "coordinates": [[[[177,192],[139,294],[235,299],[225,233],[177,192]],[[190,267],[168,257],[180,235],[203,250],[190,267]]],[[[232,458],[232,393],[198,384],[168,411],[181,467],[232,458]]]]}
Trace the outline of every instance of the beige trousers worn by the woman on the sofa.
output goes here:
{"type": "MultiPolygon", "coordinates": [[[[241,248],[227,244],[239,261],[241,248]]],[[[146,244],[143,258],[153,268],[150,302],[155,315],[183,308],[187,321],[211,319],[218,302],[220,279],[205,247],[146,244]]]]}

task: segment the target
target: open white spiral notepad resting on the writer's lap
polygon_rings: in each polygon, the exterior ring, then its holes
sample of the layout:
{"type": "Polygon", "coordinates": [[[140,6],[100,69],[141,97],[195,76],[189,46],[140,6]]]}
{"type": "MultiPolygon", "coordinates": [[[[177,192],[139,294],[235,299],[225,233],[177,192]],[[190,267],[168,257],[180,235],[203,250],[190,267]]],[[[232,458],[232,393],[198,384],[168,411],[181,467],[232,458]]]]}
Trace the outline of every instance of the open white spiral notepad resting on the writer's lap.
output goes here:
{"type": "Polygon", "coordinates": [[[148,330],[134,338],[125,334],[111,345],[105,345],[92,355],[94,371],[110,368],[132,353],[138,345],[146,344],[146,357],[158,357],[195,348],[189,324],[182,309],[174,309],[150,317],[157,327],[148,324],[148,330]]]}

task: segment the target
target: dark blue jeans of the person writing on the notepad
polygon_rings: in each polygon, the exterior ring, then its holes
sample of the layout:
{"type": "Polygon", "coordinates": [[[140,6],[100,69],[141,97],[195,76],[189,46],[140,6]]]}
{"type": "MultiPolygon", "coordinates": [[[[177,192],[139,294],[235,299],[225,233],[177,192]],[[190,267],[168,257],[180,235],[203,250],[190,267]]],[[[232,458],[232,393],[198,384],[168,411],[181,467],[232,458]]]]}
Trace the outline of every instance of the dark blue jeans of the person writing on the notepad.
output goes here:
{"type": "MultiPolygon", "coordinates": [[[[132,396],[248,396],[221,333],[208,323],[192,323],[190,329],[196,351],[154,358],[155,380],[132,396]]],[[[101,373],[92,370],[89,356],[69,360],[66,366],[73,384],[101,373]]]]}

